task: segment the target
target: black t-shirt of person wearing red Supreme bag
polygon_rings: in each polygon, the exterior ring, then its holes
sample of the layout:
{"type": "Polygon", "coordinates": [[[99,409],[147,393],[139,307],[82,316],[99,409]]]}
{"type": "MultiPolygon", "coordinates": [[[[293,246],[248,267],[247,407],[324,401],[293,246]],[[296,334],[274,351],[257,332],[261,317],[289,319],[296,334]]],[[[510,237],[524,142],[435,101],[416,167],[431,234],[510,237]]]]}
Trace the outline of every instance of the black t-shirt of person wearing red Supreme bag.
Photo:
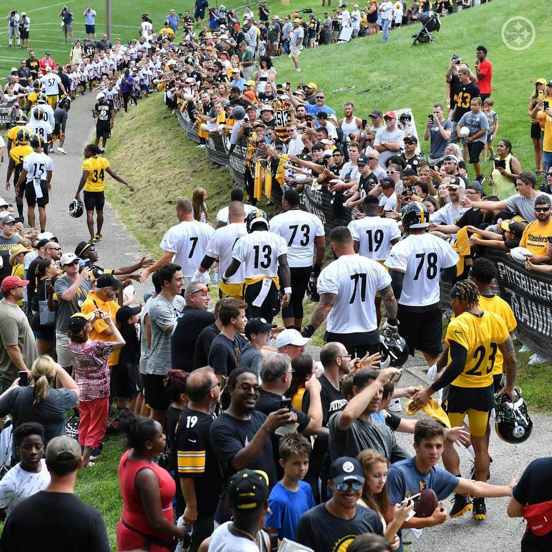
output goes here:
{"type": "MultiPolygon", "coordinates": [[[[552,500],[552,457],[538,458],[527,466],[514,487],[513,497],[523,506],[552,500]]],[[[527,531],[521,539],[521,550],[522,552],[552,550],[552,533],[537,537],[527,531]]]]}

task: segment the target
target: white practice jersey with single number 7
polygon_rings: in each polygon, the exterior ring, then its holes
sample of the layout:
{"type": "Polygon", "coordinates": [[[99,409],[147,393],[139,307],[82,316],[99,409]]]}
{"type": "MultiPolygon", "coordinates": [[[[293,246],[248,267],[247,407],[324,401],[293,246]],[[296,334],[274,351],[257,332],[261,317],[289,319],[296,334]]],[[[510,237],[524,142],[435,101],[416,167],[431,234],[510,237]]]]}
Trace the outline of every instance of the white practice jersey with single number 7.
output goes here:
{"type": "Polygon", "coordinates": [[[182,267],[184,278],[189,278],[203,261],[207,243],[214,232],[206,222],[183,221],[166,232],[160,247],[174,253],[173,263],[182,267]]]}

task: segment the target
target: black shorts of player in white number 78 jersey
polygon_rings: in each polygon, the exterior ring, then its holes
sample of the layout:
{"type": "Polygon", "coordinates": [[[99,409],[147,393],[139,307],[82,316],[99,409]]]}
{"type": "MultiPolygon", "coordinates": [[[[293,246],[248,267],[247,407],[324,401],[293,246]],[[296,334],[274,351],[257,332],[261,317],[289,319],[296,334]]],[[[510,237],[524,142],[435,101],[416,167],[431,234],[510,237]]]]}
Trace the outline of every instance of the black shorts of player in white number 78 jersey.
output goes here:
{"type": "Polygon", "coordinates": [[[436,309],[423,312],[413,312],[412,307],[399,304],[397,318],[399,333],[408,344],[409,354],[414,356],[416,349],[432,355],[443,352],[443,315],[439,304],[436,309]]]}

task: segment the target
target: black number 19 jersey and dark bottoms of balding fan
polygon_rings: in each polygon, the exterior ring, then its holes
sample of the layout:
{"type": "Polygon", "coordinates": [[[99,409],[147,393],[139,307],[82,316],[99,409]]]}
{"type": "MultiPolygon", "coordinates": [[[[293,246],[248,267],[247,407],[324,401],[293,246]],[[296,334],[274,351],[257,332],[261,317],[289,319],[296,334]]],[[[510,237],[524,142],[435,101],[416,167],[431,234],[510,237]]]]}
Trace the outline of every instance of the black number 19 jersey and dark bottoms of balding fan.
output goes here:
{"type": "Polygon", "coordinates": [[[213,516],[219,502],[221,477],[219,463],[209,443],[214,413],[205,414],[184,408],[178,422],[176,449],[178,451],[176,479],[176,499],[179,506],[185,507],[181,477],[193,477],[195,498],[198,503],[198,517],[213,516]]]}

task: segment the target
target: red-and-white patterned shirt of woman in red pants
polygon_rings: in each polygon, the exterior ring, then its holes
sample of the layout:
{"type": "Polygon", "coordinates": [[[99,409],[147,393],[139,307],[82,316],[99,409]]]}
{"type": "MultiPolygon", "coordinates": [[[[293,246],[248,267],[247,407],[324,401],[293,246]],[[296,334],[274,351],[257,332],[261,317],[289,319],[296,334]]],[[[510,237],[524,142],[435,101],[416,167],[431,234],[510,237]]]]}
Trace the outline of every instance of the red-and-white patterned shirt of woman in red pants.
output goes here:
{"type": "Polygon", "coordinates": [[[81,401],[109,397],[108,358],[113,351],[110,341],[69,342],[73,360],[73,376],[81,390],[81,401]]]}

